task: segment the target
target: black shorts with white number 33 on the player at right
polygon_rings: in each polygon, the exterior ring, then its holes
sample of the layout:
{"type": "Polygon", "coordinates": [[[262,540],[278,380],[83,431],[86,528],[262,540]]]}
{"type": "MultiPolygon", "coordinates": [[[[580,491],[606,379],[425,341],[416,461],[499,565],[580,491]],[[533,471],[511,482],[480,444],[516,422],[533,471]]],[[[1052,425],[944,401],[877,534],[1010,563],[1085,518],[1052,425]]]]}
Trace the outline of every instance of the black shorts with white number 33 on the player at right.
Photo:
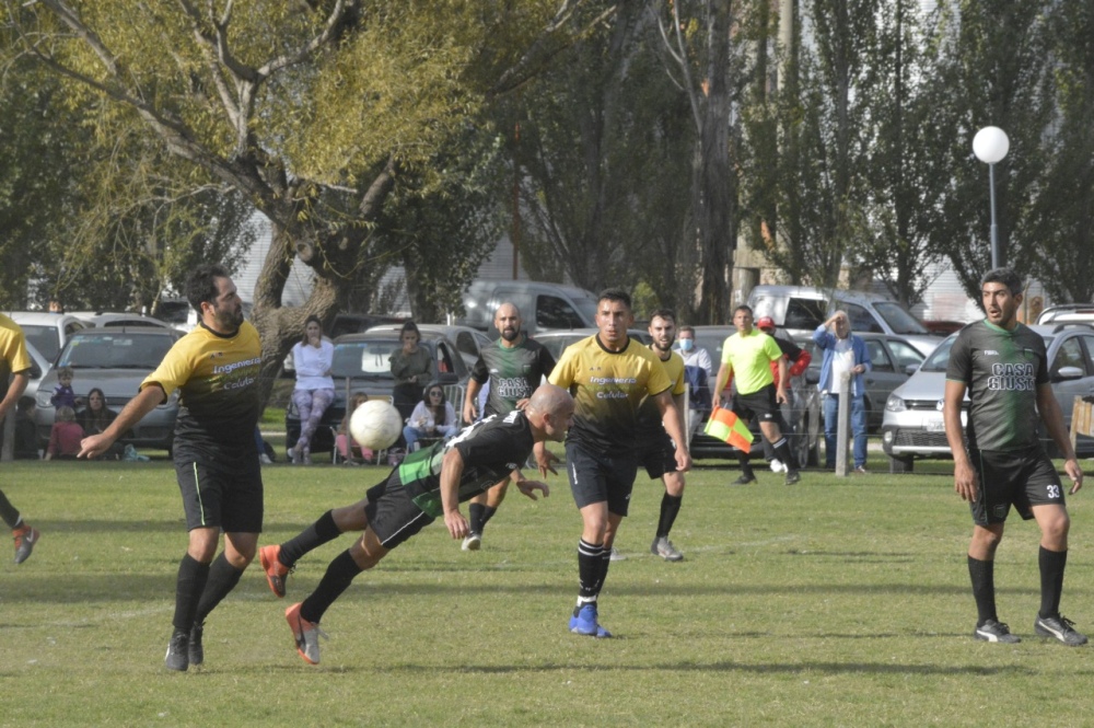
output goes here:
{"type": "Polygon", "coordinates": [[[1002,523],[1014,506],[1023,520],[1033,518],[1033,506],[1066,506],[1063,485],[1043,448],[1019,452],[969,453],[980,482],[976,500],[969,504],[977,525],[1002,523]]]}

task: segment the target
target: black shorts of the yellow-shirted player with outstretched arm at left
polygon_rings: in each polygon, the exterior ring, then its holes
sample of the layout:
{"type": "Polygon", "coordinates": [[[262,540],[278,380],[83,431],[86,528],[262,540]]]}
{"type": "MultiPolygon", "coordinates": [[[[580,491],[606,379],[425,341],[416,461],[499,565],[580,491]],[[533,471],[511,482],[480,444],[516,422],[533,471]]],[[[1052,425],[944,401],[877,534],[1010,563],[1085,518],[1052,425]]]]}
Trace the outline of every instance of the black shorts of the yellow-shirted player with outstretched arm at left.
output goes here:
{"type": "Polygon", "coordinates": [[[231,466],[176,460],[175,475],[187,531],[219,528],[225,533],[263,532],[263,471],[257,457],[241,458],[231,466]]]}

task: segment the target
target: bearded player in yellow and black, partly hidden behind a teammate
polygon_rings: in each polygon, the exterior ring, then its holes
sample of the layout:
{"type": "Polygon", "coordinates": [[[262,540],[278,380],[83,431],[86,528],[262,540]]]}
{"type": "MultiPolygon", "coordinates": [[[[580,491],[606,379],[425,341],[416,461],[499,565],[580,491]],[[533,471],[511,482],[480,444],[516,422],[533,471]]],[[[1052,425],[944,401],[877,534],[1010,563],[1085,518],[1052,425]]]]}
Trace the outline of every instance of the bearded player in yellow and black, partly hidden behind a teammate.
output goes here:
{"type": "MultiPolygon", "coordinates": [[[[659,309],[653,312],[650,316],[650,336],[653,337],[650,350],[657,355],[664,365],[668,381],[672,382],[668,391],[676,403],[677,413],[683,417],[686,412],[684,392],[687,390],[687,382],[684,380],[684,358],[673,351],[673,342],[676,339],[676,314],[672,309],[659,309]]],[[[679,427],[682,431],[687,431],[683,420],[679,427]]],[[[651,397],[647,397],[638,411],[638,438],[641,442],[639,457],[642,466],[650,477],[654,479],[660,477],[665,484],[657,532],[650,545],[650,552],[666,562],[684,561],[684,554],[668,540],[668,532],[680,512],[680,504],[684,500],[684,473],[676,467],[676,446],[665,432],[664,425],[661,424],[661,413],[657,412],[657,406],[651,397]]]]}

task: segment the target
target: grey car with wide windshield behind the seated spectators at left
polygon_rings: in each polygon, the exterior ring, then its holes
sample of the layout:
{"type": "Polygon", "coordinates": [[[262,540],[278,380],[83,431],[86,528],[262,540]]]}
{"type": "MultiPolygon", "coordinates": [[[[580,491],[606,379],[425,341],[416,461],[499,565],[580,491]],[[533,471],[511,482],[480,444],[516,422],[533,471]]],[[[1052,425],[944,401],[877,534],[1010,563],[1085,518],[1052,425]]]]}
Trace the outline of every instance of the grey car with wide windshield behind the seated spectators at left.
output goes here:
{"type": "MultiPolygon", "coordinates": [[[[86,398],[94,388],[103,390],[106,406],[120,412],[137,395],[140,383],[160,365],[172,345],[184,334],[159,326],[88,328],[69,338],[57,363],[38,384],[34,404],[34,427],[38,441],[49,441],[49,430],[57,414],[49,401],[57,386],[57,369],[71,367],[72,389],[86,398]]],[[[126,437],[138,448],[171,450],[178,415],[178,393],[144,416],[126,437]]]]}

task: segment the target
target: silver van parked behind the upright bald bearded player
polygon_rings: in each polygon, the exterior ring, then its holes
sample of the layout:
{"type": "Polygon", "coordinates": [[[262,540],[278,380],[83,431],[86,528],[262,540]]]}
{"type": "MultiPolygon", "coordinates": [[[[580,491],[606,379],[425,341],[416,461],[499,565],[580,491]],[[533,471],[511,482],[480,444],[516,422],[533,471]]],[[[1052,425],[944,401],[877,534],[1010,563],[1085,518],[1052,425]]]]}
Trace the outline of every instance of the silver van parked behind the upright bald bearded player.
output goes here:
{"type": "Polygon", "coordinates": [[[454,323],[497,334],[491,331],[493,313],[505,302],[520,309],[528,336],[540,331],[596,326],[596,293],[577,286],[533,280],[472,281],[464,293],[465,314],[454,323]]]}

